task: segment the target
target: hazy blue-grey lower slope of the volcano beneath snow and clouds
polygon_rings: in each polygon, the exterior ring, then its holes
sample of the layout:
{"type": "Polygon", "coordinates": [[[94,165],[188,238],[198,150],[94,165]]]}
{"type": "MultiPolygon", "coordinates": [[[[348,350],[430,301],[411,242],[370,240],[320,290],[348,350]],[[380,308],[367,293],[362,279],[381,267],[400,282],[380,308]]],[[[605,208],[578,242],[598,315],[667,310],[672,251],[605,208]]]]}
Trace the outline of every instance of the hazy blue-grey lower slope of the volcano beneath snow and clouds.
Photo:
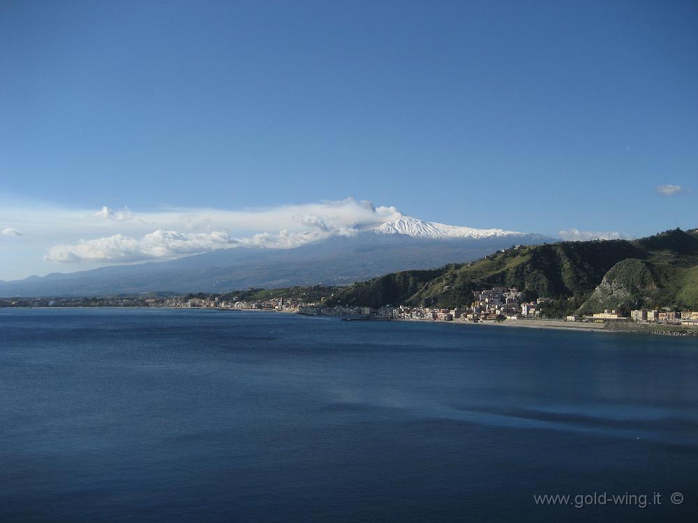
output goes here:
{"type": "MultiPolygon", "coordinates": [[[[415,220],[419,221],[419,220],[415,220]]],[[[429,222],[415,224],[419,229],[429,222]]],[[[445,226],[448,227],[448,226],[445,226]]],[[[463,229],[469,229],[464,227],[463,229]]],[[[470,229],[482,231],[487,229],[470,229]]],[[[480,234],[480,233],[478,233],[480,234]]],[[[368,229],[295,249],[235,248],[172,261],[110,266],[0,282],[0,296],[105,296],[225,292],[248,287],[348,285],[406,269],[477,259],[512,243],[541,243],[535,234],[432,238],[368,229]]]]}

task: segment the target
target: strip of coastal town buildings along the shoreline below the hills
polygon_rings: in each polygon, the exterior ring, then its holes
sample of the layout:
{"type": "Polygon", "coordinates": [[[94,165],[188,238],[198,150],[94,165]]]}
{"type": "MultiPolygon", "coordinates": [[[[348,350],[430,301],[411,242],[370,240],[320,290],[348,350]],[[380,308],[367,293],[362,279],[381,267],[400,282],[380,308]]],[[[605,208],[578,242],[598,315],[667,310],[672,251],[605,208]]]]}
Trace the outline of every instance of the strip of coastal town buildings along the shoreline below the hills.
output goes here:
{"type": "Polygon", "coordinates": [[[120,296],[92,298],[14,298],[0,299],[0,308],[31,307],[119,307],[175,308],[228,311],[286,312],[308,316],[341,317],[346,321],[421,321],[503,326],[601,329],[648,332],[669,335],[698,335],[698,310],[638,309],[624,315],[619,310],[604,310],[588,315],[551,317],[546,309],[551,298],[524,300],[525,293],[514,287],[492,287],[473,291],[466,305],[447,309],[425,306],[385,305],[370,308],[353,305],[328,305],[334,287],[295,287],[265,291],[248,289],[229,294],[189,294],[186,296],[120,296]],[[681,333],[677,333],[681,331],[681,333]]]}

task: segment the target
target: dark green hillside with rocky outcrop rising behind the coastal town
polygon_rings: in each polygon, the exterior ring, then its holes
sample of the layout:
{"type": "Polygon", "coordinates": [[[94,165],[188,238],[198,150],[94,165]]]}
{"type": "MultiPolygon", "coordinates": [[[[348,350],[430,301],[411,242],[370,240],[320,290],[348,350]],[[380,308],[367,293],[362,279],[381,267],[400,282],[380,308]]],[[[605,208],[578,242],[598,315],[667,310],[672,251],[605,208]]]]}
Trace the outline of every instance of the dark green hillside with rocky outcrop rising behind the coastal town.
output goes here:
{"type": "Polygon", "coordinates": [[[357,283],[329,304],[453,308],[473,291],[517,287],[552,298],[548,316],[604,308],[698,308],[698,234],[679,229],[634,241],[577,241],[512,247],[469,264],[404,271],[357,283]]]}

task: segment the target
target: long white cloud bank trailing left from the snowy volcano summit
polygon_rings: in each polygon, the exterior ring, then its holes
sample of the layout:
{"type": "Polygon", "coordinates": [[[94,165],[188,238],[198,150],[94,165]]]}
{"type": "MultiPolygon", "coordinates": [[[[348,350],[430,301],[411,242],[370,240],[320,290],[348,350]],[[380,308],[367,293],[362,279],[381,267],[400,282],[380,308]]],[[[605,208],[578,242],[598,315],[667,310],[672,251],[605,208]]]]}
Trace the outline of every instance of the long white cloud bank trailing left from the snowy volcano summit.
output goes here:
{"type": "MultiPolygon", "coordinates": [[[[332,236],[355,236],[362,229],[389,220],[397,212],[394,207],[376,208],[371,202],[357,202],[352,198],[246,211],[173,209],[131,213],[124,209],[114,213],[105,206],[92,216],[112,222],[112,225],[99,225],[98,230],[113,227],[121,230],[108,236],[54,245],[45,259],[63,263],[132,263],[225,248],[288,249],[332,236]],[[152,228],[147,229],[154,225],[160,227],[154,232],[152,228]],[[236,232],[235,236],[231,231],[236,232]]],[[[75,219],[75,216],[71,219],[72,224],[75,219]]],[[[93,223],[91,227],[97,226],[93,223]]]]}

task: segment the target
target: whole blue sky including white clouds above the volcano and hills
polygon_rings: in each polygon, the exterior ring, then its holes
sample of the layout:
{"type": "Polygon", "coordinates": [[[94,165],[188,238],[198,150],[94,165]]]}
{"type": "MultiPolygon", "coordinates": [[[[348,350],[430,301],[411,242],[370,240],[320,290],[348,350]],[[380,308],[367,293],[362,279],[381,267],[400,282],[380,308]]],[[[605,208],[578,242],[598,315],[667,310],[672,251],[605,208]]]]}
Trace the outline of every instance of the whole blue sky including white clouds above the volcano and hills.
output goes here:
{"type": "Polygon", "coordinates": [[[695,1],[5,0],[0,80],[3,280],[291,247],[389,207],[698,226],[695,1]]]}

